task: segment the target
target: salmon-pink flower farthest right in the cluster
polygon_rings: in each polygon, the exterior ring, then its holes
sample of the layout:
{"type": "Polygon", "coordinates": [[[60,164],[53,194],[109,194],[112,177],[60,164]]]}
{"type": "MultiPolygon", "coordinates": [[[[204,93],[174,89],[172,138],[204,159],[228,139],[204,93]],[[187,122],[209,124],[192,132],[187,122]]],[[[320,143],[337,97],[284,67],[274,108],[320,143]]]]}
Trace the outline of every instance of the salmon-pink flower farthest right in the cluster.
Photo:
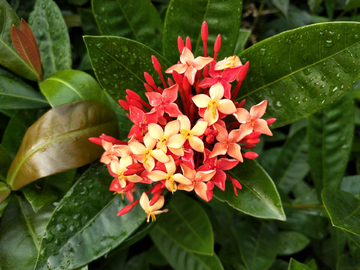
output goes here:
{"type": "Polygon", "coordinates": [[[266,111],[266,106],[267,100],[264,100],[252,106],[250,113],[244,108],[238,108],[234,116],[242,124],[241,126],[245,126],[245,129],[252,129],[253,131],[272,136],[266,120],[260,119],[266,111]]]}

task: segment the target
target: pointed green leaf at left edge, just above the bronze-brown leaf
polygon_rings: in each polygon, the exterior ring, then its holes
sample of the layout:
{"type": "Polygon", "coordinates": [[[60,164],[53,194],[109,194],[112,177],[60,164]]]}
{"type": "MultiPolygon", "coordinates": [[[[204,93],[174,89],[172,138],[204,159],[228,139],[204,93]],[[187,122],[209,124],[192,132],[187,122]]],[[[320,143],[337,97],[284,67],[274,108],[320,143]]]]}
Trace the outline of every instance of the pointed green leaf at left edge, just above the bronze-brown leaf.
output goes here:
{"type": "Polygon", "coordinates": [[[0,109],[33,109],[49,106],[30,85],[0,76],[0,109]]]}

